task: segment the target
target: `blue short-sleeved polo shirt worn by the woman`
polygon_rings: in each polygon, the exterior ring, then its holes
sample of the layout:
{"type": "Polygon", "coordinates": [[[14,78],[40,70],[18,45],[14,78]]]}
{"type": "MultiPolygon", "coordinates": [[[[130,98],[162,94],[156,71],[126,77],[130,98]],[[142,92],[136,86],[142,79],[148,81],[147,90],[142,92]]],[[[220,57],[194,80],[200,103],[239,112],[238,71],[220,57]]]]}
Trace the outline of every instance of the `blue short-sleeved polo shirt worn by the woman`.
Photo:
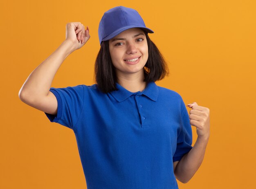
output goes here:
{"type": "Polygon", "coordinates": [[[173,162],[192,148],[189,114],[177,92],[101,92],[97,84],[50,88],[57,115],[74,131],[88,189],[177,189],[173,162]]]}

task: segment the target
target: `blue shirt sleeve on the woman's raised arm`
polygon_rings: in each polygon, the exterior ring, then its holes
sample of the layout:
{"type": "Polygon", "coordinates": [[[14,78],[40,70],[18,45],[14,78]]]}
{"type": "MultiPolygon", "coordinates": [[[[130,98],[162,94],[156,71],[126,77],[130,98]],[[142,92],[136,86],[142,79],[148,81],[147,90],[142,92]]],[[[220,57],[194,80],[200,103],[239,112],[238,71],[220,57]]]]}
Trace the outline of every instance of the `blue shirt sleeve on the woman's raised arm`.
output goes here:
{"type": "Polygon", "coordinates": [[[51,122],[56,122],[74,130],[83,109],[83,85],[67,88],[50,88],[58,102],[56,115],[45,112],[51,122]]]}

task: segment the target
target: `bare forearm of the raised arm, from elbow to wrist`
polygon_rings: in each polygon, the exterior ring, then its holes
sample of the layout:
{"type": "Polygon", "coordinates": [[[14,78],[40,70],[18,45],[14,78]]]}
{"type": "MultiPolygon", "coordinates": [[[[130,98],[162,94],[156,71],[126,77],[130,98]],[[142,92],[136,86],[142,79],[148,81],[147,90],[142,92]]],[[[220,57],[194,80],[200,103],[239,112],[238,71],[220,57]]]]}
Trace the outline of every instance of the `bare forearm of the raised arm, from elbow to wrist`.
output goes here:
{"type": "Polygon", "coordinates": [[[32,71],[21,87],[19,96],[30,100],[42,95],[46,96],[58,68],[72,52],[72,42],[65,40],[47,59],[32,71]]]}

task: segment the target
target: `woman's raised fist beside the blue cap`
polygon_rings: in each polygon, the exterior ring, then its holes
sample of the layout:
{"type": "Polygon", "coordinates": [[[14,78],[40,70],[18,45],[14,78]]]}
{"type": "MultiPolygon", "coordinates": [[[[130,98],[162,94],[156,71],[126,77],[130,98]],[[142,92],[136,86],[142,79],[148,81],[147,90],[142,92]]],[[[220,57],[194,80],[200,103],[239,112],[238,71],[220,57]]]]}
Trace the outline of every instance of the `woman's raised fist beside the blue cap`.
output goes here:
{"type": "Polygon", "coordinates": [[[90,39],[89,28],[81,22],[69,22],[66,25],[66,40],[71,41],[74,45],[74,51],[81,48],[90,39]]]}

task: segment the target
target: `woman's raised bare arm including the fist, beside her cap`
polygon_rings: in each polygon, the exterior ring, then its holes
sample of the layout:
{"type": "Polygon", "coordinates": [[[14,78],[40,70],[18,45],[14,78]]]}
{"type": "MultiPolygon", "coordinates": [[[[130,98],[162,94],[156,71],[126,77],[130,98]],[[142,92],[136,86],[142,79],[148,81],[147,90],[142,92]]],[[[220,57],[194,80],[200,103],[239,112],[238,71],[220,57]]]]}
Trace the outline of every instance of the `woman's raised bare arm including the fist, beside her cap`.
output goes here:
{"type": "Polygon", "coordinates": [[[89,38],[89,29],[84,30],[83,24],[67,23],[66,40],[32,71],[19,91],[20,100],[38,110],[56,114],[57,100],[49,92],[54,76],[66,57],[81,48],[89,38]]]}

